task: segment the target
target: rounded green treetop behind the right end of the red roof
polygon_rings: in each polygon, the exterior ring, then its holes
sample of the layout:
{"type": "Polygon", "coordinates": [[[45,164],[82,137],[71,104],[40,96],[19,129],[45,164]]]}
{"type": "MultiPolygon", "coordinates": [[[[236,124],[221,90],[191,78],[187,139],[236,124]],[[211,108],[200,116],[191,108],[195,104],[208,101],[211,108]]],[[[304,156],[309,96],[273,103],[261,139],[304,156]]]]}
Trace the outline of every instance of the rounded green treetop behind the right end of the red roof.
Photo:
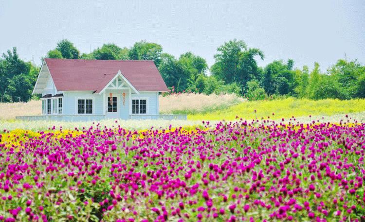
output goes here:
{"type": "Polygon", "coordinates": [[[134,43],[128,54],[130,59],[152,60],[156,67],[159,67],[161,62],[162,46],[142,40],[134,43]]]}

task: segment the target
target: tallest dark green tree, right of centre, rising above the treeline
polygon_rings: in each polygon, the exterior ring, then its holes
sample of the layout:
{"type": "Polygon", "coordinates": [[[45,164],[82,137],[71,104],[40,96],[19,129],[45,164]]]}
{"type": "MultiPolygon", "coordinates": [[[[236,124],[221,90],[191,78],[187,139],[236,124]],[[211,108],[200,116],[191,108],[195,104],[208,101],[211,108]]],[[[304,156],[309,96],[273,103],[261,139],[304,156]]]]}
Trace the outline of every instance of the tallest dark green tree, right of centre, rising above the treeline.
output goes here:
{"type": "Polygon", "coordinates": [[[226,84],[237,83],[245,88],[251,79],[260,79],[260,72],[256,63],[256,56],[264,58],[262,51],[248,48],[242,40],[230,40],[217,49],[214,55],[215,64],[211,72],[226,84]]]}

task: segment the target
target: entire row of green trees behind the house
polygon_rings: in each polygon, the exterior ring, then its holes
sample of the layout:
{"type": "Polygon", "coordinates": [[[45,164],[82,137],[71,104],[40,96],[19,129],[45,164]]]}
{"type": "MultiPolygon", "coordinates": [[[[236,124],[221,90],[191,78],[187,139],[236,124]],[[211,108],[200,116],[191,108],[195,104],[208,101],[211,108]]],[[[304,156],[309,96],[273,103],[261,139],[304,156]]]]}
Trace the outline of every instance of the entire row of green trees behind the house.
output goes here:
{"type": "MultiPolygon", "coordinates": [[[[45,57],[153,60],[173,92],[236,93],[249,100],[286,96],[313,100],[365,98],[365,66],[357,60],[340,59],[326,71],[321,71],[318,63],[314,63],[312,70],[307,66],[293,68],[292,59],[259,67],[257,59],[264,59],[264,53],[236,39],[218,47],[210,68],[204,58],[190,51],[175,58],[165,53],[161,45],[146,41],[136,42],[130,48],[104,44],[89,54],[81,54],[73,43],[63,39],[45,57]]],[[[0,94],[4,100],[20,97],[28,101],[38,71],[39,67],[18,58],[16,48],[4,53],[0,59],[0,94]]]]}

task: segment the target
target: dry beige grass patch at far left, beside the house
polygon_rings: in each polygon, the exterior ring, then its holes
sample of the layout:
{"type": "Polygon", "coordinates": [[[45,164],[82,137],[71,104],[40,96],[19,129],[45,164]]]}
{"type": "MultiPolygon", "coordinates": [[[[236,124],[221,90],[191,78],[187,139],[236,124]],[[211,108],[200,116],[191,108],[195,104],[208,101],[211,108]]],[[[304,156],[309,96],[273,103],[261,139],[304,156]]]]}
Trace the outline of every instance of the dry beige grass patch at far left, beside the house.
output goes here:
{"type": "Polygon", "coordinates": [[[17,116],[41,115],[42,102],[5,102],[0,103],[0,120],[14,120],[17,116]]]}

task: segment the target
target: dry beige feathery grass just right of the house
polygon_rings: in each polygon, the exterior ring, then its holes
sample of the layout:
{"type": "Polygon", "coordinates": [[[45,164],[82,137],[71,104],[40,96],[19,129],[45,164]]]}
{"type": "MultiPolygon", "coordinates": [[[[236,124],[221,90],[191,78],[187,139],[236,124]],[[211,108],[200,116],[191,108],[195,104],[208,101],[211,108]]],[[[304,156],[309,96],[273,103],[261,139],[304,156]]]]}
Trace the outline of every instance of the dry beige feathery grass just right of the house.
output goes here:
{"type": "Polygon", "coordinates": [[[195,114],[221,110],[244,100],[235,94],[184,93],[160,96],[159,101],[161,114],[195,114]]]}

